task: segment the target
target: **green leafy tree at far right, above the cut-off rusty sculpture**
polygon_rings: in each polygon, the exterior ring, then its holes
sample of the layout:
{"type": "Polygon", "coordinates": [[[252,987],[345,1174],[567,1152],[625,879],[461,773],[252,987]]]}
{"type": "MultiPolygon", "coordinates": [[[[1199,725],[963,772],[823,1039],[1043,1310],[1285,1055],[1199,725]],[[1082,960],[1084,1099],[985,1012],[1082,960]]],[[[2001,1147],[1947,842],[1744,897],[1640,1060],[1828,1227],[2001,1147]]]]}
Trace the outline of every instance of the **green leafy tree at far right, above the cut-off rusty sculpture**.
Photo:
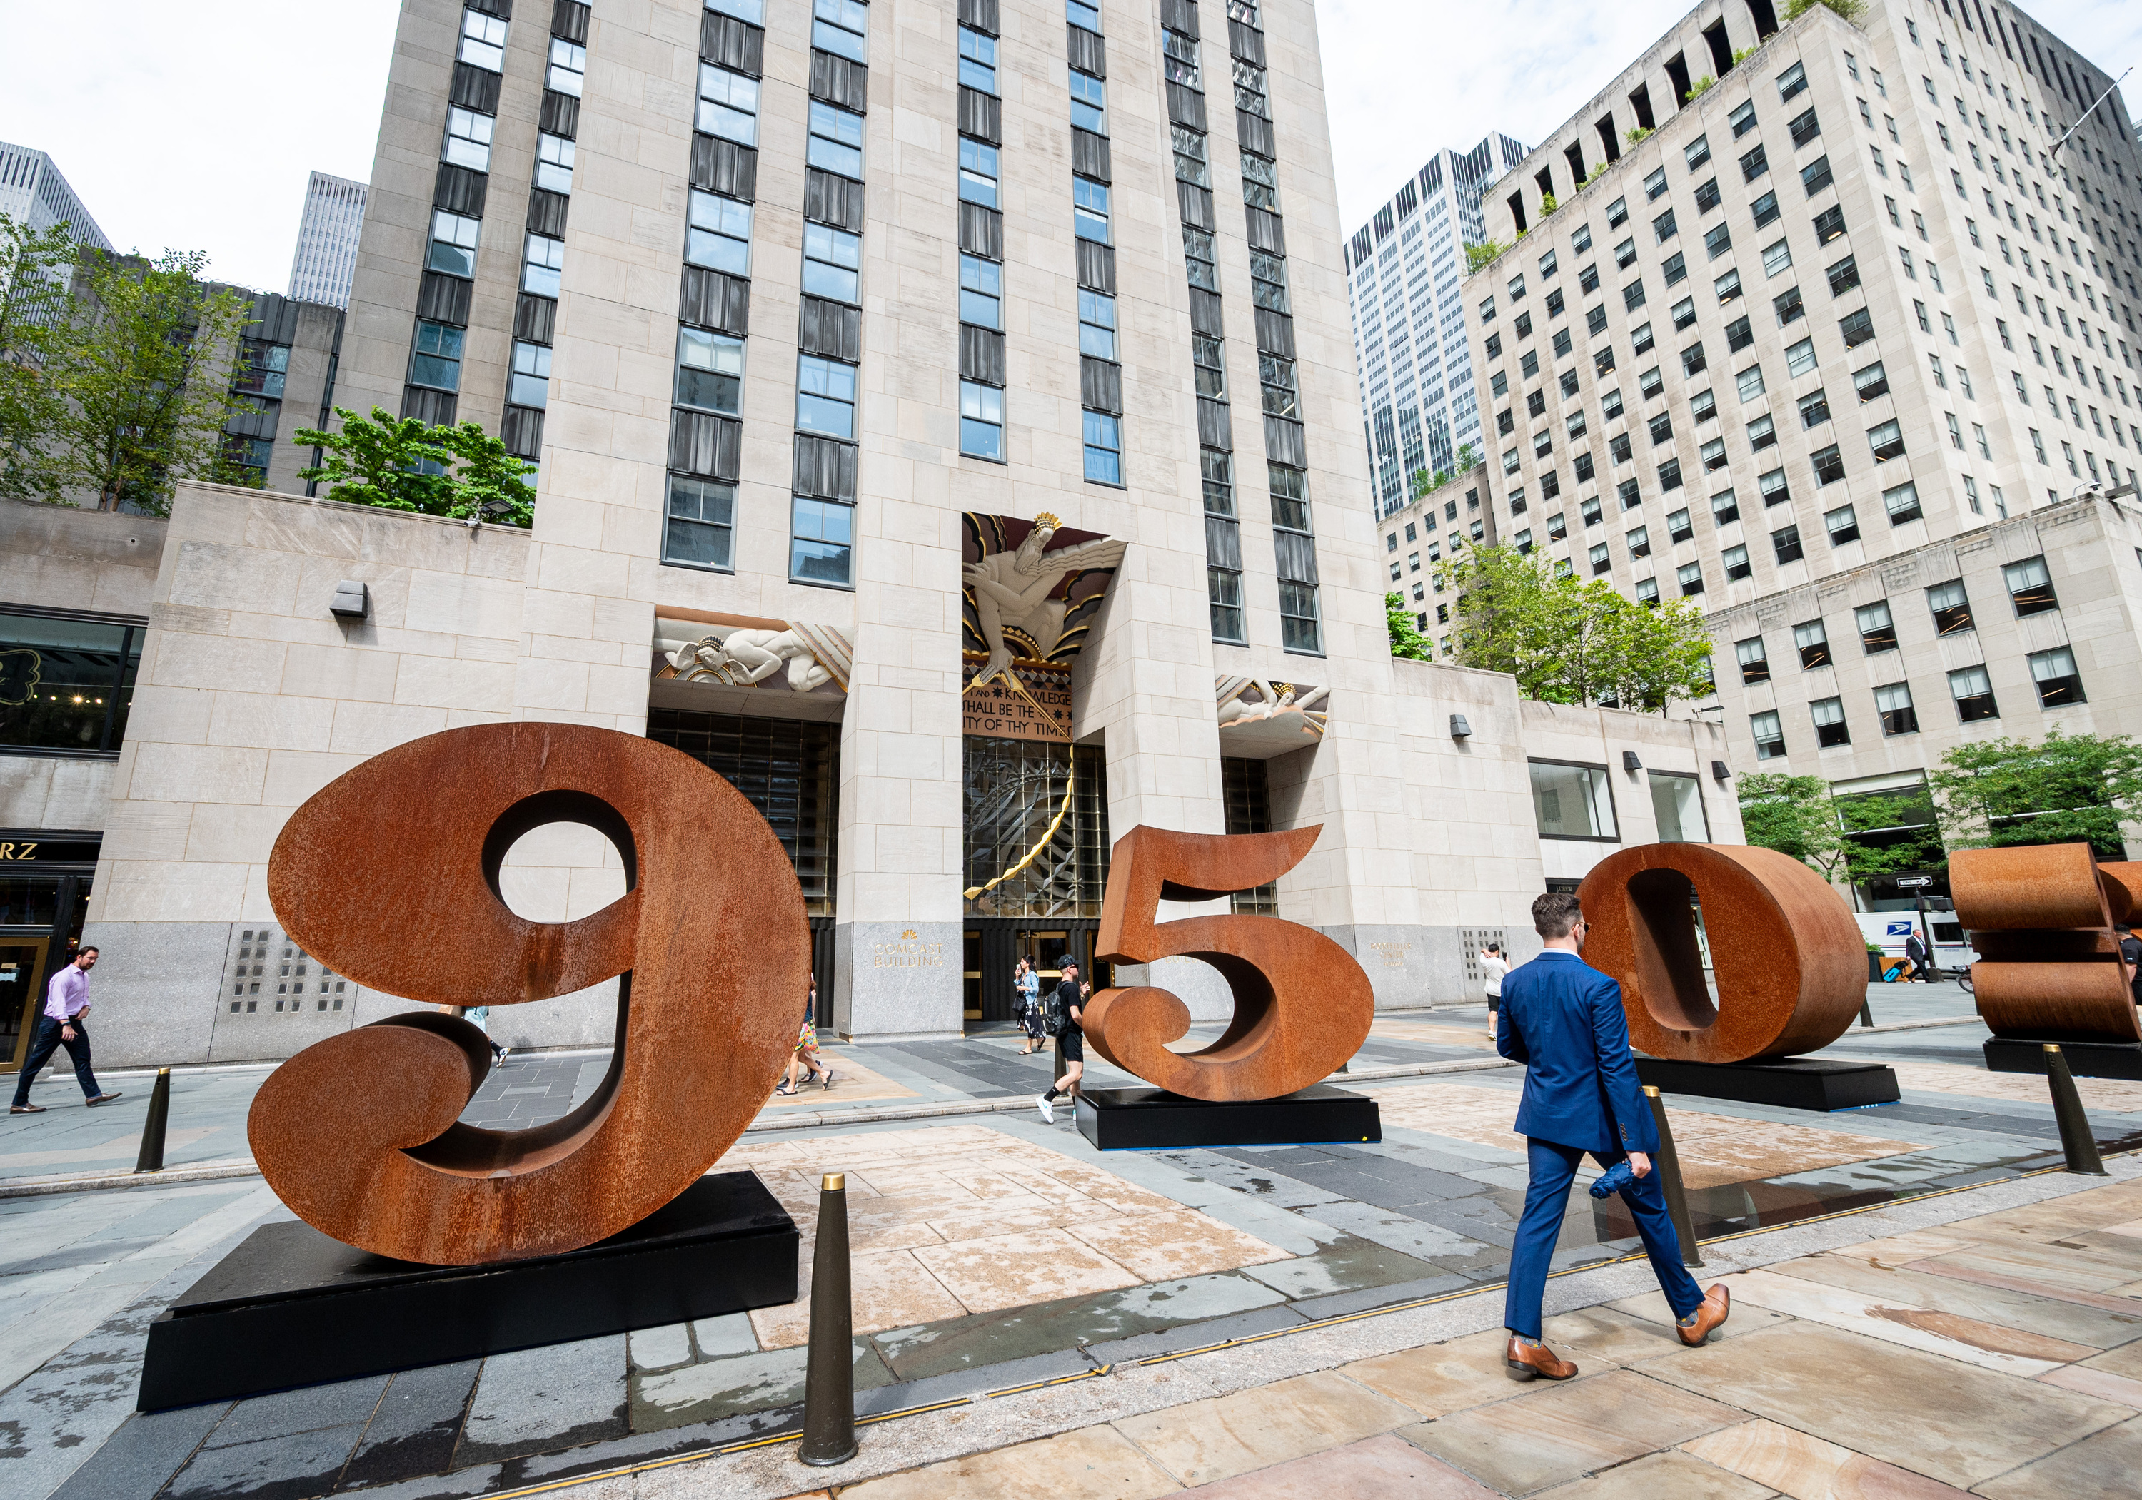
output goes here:
{"type": "Polygon", "coordinates": [[[2142,809],[2142,745],[2125,734],[1958,745],[1928,777],[1951,850],[2091,843],[2121,858],[2121,822],[2142,809]]]}

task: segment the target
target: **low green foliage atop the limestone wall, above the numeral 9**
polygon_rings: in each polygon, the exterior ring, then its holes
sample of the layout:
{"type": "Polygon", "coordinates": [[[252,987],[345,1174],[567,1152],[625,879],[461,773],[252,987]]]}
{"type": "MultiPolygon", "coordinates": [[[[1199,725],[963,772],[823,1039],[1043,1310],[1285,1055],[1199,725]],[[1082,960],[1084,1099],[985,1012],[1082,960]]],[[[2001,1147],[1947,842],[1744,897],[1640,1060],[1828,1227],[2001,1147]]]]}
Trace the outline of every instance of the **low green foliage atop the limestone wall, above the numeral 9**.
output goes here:
{"type": "Polygon", "coordinates": [[[298,477],[326,484],[330,501],[533,524],[536,490],[523,475],[536,464],[508,454],[506,443],[478,424],[433,428],[420,417],[396,417],[386,407],[373,407],[371,417],[343,407],[334,415],[343,419],[336,432],[300,428],[293,434],[298,445],[321,449],[323,462],[300,469],[298,477]]]}

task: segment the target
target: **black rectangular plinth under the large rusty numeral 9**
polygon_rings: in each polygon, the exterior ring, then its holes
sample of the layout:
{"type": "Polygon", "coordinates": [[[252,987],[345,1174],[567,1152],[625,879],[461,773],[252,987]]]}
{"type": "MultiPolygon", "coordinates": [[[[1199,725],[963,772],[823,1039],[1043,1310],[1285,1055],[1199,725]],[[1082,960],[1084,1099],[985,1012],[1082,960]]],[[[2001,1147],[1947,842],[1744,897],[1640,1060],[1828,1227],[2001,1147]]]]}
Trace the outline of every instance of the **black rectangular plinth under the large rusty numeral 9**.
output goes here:
{"type": "Polygon", "coordinates": [[[797,1299],[797,1226],[752,1173],[700,1177],[563,1256],[431,1267],[263,1224],[148,1329],[135,1406],[229,1402],[797,1299]]]}

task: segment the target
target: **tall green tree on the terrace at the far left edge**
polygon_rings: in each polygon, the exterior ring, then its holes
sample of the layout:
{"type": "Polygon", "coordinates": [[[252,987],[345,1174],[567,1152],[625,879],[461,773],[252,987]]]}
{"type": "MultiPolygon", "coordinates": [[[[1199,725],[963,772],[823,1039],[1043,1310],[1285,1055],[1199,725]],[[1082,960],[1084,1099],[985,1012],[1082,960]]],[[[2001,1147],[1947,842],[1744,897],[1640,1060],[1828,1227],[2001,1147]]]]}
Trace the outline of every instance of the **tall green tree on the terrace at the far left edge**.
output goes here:
{"type": "Polygon", "coordinates": [[[244,481],[223,454],[238,334],[251,308],[201,280],[208,257],[88,255],[60,323],[41,336],[49,394],[13,454],[19,494],[163,516],[176,479],[244,481]]]}

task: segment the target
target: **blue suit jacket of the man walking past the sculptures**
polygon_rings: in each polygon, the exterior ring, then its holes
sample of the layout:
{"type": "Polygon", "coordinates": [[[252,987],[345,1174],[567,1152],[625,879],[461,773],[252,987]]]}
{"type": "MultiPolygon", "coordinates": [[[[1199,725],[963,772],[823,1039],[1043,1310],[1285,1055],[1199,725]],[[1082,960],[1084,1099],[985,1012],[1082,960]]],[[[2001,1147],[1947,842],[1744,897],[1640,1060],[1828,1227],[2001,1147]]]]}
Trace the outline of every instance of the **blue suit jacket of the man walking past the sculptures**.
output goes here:
{"type": "Polygon", "coordinates": [[[1609,1158],[1658,1151],[1621,986],[1574,952],[1549,948],[1504,976],[1495,1051],[1525,1063],[1517,1134],[1609,1158]]]}

